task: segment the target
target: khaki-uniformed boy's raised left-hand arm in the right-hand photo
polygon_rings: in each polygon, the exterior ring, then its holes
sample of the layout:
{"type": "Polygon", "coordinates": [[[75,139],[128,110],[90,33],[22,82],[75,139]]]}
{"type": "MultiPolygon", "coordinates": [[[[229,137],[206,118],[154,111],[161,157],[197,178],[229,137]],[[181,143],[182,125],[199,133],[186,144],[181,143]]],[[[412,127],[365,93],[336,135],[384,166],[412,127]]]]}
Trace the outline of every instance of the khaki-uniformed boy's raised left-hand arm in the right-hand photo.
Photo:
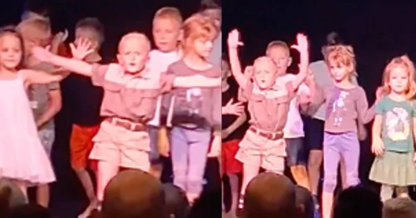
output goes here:
{"type": "Polygon", "coordinates": [[[249,80],[245,77],[241,70],[239,53],[237,50],[238,46],[242,45],[242,42],[239,42],[239,37],[240,33],[238,30],[232,30],[228,35],[229,65],[231,66],[231,72],[232,75],[234,75],[236,82],[239,84],[241,89],[245,89],[249,80]]]}

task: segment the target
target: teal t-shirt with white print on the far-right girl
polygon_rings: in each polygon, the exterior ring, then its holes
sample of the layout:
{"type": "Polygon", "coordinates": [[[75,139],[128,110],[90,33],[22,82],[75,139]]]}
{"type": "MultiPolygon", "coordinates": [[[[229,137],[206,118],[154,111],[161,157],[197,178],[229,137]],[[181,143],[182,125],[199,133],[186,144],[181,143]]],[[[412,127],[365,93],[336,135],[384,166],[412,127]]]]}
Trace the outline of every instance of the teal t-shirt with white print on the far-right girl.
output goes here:
{"type": "Polygon", "coordinates": [[[397,102],[388,96],[376,105],[376,114],[383,116],[382,135],[385,150],[413,152],[413,117],[416,102],[397,102]]]}

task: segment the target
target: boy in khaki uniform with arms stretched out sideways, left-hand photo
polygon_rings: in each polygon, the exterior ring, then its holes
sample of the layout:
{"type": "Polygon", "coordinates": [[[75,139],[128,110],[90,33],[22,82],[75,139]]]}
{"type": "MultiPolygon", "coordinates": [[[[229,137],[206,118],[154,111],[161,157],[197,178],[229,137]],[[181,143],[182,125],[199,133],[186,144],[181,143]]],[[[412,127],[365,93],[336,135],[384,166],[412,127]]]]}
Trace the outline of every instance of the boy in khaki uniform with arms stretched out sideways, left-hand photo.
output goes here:
{"type": "MultiPolygon", "coordinates": [[[[85,48],[79,46],[73,53],[87,55],[93,52],[85,48]]],[[[53,55],[44,48],[33,48],[39,60],[91,77],[92,84],[104,89],[101,103],[104,120],[93,138],[94,147],[89,155],[90,159],[98,161],[99,202],[103,201],[105,186],[120,167],[149,171],[150,142],[146,126],[154,116],[157,97],[161,93],[159,77],[154,77],[146,68],[149,52],[150,41],[141,33],[128,33],[121,38],[117,64],[89,64],[53,55]]],[[[167,80],[174,87],[220,85],[220,78],[199,84],[204,78],[198,75],[169,76],[167,80]]]]}

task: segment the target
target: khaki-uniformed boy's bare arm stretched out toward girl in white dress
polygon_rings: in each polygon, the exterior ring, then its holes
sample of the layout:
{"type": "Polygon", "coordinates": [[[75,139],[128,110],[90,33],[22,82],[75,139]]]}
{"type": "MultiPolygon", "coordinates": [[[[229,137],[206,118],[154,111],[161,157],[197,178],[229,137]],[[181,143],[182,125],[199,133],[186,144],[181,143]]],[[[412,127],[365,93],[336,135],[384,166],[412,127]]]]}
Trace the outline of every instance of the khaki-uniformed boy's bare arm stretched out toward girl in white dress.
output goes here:
{"type": "Polygon", "coordinates": [[[53,55],[53,53],[41,47],[33,48],[33,55],[42,62],[48,62],[56,66],[61,66],[68,71],[88,77],[92,76],[92,64],[88,64],[87,62],[53,55]]]}

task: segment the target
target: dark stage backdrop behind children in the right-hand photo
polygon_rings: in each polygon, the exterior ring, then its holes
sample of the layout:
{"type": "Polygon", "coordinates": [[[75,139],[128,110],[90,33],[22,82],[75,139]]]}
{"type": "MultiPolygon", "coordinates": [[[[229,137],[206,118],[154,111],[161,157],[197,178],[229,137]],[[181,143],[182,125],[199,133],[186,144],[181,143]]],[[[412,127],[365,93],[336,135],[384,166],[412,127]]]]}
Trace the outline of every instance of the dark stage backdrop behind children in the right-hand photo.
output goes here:
{"type": "MultiPolygon", "coordinates": [[[[280,39],[293,44],[296,33],[303,32],[311,41],[311,61],[321,60],[320,48],[326,35],[336,31],[354,46],[358,82],[372,104],[385,64],[405,53],[416,58],[416,29],[412,27],[415,8],[416,1],[410,0],[224,1],[223,50],[226,52],[227,33],[238,28],[245,44],[241,48],[241,60],[243,65],[252,64],[255,57],[264,55],[270,41],[280,39]]],[[[297,63],[297,53],[293,56],[297,63]]],[[[290,69],[296,68],[297,64],[293,64],[290,69]]],[[[367,175],[374,158],[370,140],[363,142],[361,148],[360,176],[369,183],[367,175]]]]}

